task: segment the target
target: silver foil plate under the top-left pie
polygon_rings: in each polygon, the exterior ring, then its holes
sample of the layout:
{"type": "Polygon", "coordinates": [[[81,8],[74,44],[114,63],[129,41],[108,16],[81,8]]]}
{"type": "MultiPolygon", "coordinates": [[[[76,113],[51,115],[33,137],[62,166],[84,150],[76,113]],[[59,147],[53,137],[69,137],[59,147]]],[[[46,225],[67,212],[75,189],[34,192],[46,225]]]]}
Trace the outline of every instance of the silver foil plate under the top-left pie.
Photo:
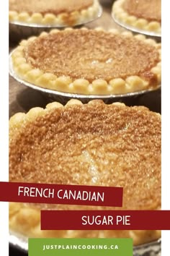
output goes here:
{"type": "MultiPolygon", "coordinates": [[[[92,22],[97,20],[99,17],[102,16],[102,7],[99,6],[99,11],[96,17],[87,18],[84,22],[78,22],[73,27],[85,25],[86,23],[92,22]]],[[[27,22],[19,22],[19,21],[12,21],[9,22],[9,35],[11,36],[12,40],[17,40],[21,38],[25,38],[32,35],[38,35],[43,31],[49,31],[53,28],[66,28],[69,27],[68,25],[41,25],[37,23],[27,23],[27,22]],[[17,38],[16,38],[17,36],[17,38]]]]}

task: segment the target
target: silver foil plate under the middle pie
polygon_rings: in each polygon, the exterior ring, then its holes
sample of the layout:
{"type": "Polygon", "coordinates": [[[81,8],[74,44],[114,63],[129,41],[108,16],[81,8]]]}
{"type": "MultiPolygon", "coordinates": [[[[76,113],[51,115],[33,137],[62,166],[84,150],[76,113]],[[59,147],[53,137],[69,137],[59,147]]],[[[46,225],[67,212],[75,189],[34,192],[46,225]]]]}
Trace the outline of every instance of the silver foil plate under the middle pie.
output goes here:
{"type": "Polygon", "coordinates": [[[161,88],[161,85],[158,85],[155,88],[151,88],[148,90],[140,90],[138,92],[134,93],[126,93],[126,94],[111,94],[111,95],[84,95],[84,94],[76,94],[76,93],[63,93],[59,92],[57,90],[50,90],[50,89],[45,89],[41,88],[37,85],[34,85],[30,82],[27,82],[25,80],[22,80],[15,72],[12,67],[12,53],[9,54],[9,74],[14,77],[17,82],[20,84],[26,86],[27,88],[32,88],[34,90],[40,91],[40,93],[43,93],[45,96],[50,98],[51,101],[59,101],[63,104],[67,103],[70,99],[79,99],[83,103],[87,103],[93,99],[99,99],[104,101],[105,103],[111,103],[115,101],[123,101],[125,98],[135,98],[140,95],[143,95],[145,93],[149,93],[155,90],[158,90],[161,88]]]}

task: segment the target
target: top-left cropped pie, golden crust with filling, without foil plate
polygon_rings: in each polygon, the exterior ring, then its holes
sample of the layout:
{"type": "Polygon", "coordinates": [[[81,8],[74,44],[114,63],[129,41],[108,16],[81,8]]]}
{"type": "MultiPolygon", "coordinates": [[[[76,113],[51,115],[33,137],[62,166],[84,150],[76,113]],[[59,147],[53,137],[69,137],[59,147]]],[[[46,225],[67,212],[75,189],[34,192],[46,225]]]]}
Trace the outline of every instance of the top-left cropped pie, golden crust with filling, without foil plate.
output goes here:
{"type": "Polygon", "coordinates": [[[98,0],[9,0],[9,22],[73,26],[97,18],[98,0]]]}

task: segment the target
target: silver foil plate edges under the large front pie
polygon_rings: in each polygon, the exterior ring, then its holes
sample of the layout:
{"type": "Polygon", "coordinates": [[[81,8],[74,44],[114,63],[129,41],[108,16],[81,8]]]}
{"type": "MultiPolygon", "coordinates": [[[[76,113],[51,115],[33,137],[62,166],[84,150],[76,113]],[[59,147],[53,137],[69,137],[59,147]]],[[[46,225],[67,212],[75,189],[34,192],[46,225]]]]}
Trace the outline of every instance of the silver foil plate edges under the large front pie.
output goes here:
{"type": "MultiPolygon", "coordinates": [[[[28,251],[28,239],[17,233],[10,232],[9,244],[22,252],[28,251]]],[[[161,256],[161,239],[133,247],[133,256],[161,256]]]]}

